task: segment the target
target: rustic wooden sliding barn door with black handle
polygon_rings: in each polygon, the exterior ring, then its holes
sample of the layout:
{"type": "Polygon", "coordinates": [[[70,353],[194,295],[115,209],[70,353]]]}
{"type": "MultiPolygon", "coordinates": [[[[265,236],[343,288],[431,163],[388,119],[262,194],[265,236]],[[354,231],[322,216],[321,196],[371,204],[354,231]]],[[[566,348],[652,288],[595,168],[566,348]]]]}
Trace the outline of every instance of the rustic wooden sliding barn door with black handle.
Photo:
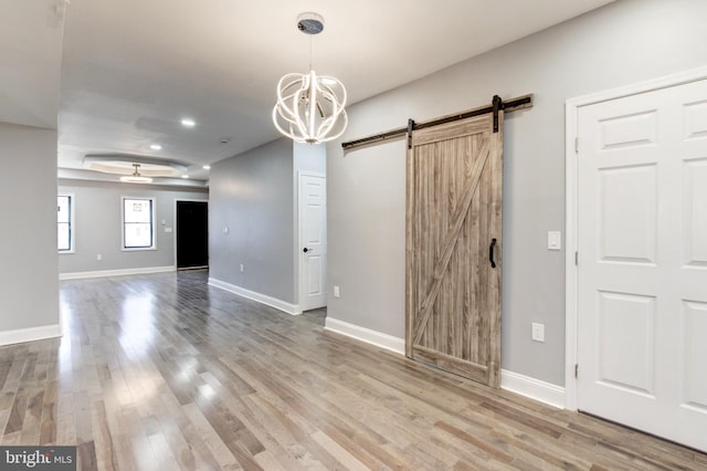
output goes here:
{"type": "Polygon", "coordinates": [[[413,132],[408,357],[499,386],[503,112],[413,132]]]}

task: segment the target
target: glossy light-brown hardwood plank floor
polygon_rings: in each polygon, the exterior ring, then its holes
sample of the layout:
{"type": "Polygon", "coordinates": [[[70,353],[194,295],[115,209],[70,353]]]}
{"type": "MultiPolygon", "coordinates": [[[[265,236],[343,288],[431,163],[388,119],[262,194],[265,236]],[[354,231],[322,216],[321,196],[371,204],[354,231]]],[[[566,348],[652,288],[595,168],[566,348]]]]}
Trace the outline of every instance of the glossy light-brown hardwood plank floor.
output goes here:
{"type": "Polygon", "coordinates": [[[707,469],[205,282],[62,282],[65,336],[0,348],[1,444],[76,444],[83,470],[707,469]]]}

